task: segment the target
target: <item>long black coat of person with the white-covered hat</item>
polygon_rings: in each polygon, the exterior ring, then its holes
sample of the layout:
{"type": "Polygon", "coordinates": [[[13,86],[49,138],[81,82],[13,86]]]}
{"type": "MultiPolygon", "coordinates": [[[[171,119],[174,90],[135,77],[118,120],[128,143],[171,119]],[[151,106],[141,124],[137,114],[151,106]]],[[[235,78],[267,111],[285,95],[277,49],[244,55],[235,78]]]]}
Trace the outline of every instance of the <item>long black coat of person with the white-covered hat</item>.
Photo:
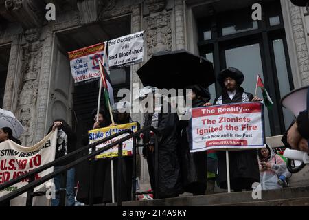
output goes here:
{"type": "MultiPolygon", "coordinates": [[[[170,105],[169,105],[169,109],[170,105]]],[[[152,113],[146,113],[144,127],[152,124],[152,113]]],[[[179,167],[179,157],[177,153],[177,133],[176,124],[178,122],[177,113],[159,113],[158,128],[159,133],[159,198],[176,197],[183,192],[181,184],[181,171],[179,167]]],[[[155,137],[150,133],[144,133],[144,144],[155,143],[155,137]]],[[[143,154],[147,158],[150,184],[155,188],[155,153],[144,147],[143,154]]]]}

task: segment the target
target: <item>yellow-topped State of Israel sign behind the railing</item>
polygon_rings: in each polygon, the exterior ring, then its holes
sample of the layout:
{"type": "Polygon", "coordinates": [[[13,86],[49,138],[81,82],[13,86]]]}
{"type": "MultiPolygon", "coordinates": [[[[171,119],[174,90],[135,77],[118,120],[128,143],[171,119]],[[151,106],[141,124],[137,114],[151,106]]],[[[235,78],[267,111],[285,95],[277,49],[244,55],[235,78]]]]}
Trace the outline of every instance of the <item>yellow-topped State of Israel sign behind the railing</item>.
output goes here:
{"type": "MultiPolygon", "coordinates": [[[[114,135],[115,133],[119,133],[121,131],[124,131],[126,129],[131,129],[131,131],[136,132],[137,131],[137,123],[129,123],[129,124],[120,124],[117,126],[109,126],[102,129],[95,129],[88,131],[89,134],[89,144],[92,144],[94,142],[97,142],[98,140],[102,140],[106,137],[109,137],[111,135],[114,135]]],[[[117,142],[117,140],[122,139],[123,137],[126,137],[128,134],[120,135],[112,140],[108,140],[107,142],[104,142],[103,144],[99,144],[96,146],[97,150],[111,144],[113,142],[117,142]]],[[[122,143],[122,155],[123,156],[130,156],[132,155],[132,149],[133,149],[133,138],[130,140],[127,140],[126,142],[122,143]]],[[[108,151],[105,151],[104,153],[98,155],[96,158],[107,158],[107,157],[117,157],[118,156],[118,146],[113,146],[113,148],[109,149],[108,151]]]]}

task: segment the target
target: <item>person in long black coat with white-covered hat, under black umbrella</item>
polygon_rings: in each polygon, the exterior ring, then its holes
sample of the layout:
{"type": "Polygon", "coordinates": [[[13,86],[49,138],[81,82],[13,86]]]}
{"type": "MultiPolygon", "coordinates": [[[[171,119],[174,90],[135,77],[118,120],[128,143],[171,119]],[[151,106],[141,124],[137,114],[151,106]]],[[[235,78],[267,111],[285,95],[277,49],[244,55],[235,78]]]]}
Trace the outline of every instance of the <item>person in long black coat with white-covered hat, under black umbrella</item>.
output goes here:
{"type": "Polygon", "coordinates": [[[176,111],[168,102],[162,102],[162,97],[158,98],[160,104],[156,104],[155,87],[144,87],[139,91],[139,100],[147,98],[148,112],[144,115],[144,127],[153,126],[158,131],[158,153],[159,153],[159,188],[155,188],[155,137],[151,132],[144,133],[143,155],[147,159],[150,184],[152,190],[157,190],[159,198],[177,197],[183,193],[181,184],[181,170],[179,156],[177,153],[177,128],[179,121],[176,111]],[[145,92],[147,91],[147,92],[145,92]],[[150,107],[150,105],[152,105],[150,107]],[[168,112],[163,111],[163,107],[168,107],[168,112]],[[175,113],[172,113],[175,112],[175,113]]]}

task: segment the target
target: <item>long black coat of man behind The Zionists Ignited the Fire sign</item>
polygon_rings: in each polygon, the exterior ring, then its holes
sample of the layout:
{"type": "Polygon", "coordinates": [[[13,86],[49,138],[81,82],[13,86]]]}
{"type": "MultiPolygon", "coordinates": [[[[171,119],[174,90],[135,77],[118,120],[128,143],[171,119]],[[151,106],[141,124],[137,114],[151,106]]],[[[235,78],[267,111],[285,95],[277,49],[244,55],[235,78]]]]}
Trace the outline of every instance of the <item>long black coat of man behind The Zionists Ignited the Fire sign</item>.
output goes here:
{"type": "MultiPolygon", "coordinates": [[[[226,91],[222,92],[222,104],[243,102],[244,89],[238,88],[236,95],[231,100],[226,91]]],[[[253,95],[245,93],[249,102],[253,99],[253,95]]],[[[216,104],[216,100],[214,104],[216,104]]],[[[227,188],[227,163],[225,151],[218,151],[218,181],[220,188],[227,188]]],[[[231,189],[251,190],[254,182],[260,182],[260,170],[258,166],[258,151],[229,151],[229,175],[231,181],[231,189]]]]}

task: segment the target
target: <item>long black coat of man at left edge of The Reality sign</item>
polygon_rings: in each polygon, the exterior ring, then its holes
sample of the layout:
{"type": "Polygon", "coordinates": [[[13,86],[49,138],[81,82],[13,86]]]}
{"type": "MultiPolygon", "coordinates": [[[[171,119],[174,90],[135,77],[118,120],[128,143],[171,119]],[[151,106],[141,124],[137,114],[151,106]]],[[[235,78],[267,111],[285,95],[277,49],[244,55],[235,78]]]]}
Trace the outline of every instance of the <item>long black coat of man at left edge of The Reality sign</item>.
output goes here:
{"type": "MultiPolygon", "coordinates": [[[[192,102],[192,107],[203,107],[205,100],[192,102]]],[[[207,152],[190,153],[187,139],[188,121],[179,121],[180,158],[185,192],[203,195],[207,186],[207,152]]]]}

